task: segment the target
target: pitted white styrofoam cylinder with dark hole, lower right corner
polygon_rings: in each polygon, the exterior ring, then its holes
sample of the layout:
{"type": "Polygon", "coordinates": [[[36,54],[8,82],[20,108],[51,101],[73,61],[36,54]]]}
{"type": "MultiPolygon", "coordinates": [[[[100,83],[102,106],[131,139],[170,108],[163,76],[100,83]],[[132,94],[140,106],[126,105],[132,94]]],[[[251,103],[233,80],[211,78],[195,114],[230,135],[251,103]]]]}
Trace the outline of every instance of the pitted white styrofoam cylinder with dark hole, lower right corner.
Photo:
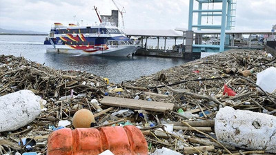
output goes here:
{"type": "Polygon", "coordinates": [[[222,107],[215,118],[215,134],[224,144],[276,153],[276,116],[222,107]]]}

